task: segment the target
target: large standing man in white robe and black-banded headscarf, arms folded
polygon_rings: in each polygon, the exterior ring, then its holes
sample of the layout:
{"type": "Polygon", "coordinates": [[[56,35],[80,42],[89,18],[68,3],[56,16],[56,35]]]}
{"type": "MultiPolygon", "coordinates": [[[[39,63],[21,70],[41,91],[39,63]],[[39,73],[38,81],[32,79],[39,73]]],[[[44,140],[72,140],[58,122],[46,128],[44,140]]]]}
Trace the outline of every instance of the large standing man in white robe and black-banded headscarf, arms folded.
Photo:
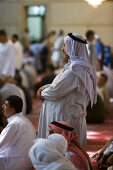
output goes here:
{"type": "Polygon", "coordinates": [[[48,124],[66,121],[78,134],[81,145],[86,146],[86,108],[96,102],[96,73],[90,63],[86,40],[79,34],[64,37],[63,52],[69,62],[60,74],[38,90],[44,100],[40,112],[38,137],[45,138],[48,124]]]}

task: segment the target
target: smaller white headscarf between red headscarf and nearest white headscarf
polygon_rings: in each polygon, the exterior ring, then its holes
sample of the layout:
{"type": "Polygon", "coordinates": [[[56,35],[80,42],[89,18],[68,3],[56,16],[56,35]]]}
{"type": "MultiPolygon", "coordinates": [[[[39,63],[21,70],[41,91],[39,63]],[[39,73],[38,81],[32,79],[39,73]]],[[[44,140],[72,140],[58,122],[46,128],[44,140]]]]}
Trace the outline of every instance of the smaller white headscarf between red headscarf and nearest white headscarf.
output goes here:
{"type": "Polygon", "coordinates": [[[64,155],[67,152],[68,143],[63,135],[54,133],[52,135],[49,135],[48,139],[56,145],[57,150],[62,155],[64,155]]]}

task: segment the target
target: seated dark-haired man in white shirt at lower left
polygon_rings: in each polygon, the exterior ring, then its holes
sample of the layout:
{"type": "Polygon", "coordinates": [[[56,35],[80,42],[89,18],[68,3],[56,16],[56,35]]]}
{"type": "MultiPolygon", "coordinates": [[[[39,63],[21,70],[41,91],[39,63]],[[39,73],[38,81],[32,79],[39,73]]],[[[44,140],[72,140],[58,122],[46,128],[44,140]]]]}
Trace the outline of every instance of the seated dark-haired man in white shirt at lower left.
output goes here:
{"type": "Polygon", "coordinates": [[[22,99],[14,95],[3,105],[8,120],[0,134],[0,166],[3,170],[28,170],[32,166],[28,152],[36,133],[31,122],[21,115],[22,107],[22,99]]]}

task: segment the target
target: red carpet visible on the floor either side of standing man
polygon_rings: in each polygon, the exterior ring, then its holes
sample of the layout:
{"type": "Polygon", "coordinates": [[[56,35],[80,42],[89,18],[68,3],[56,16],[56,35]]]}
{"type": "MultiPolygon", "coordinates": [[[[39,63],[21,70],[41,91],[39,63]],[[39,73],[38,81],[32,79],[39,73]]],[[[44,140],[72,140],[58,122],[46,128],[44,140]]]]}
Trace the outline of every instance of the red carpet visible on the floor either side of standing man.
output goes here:
{"type": "MultiPolygon", "coordinates": [[[[36,131],[38,130],[38,121],[40,115],[41,102],[38,99],[33,99],[32,113],[27,117],[33,123],[36,131]]],[[[103,124],[90,124],[87,131],[87,151],[89,155],[101,149],[106,141],[113,136],[113,114],[110,114],[103,124]]],[[[95,164],[95,159],[92,159],[95,164]]],[[[97,168],[95,168],[97,170],[97,168]]]]}

